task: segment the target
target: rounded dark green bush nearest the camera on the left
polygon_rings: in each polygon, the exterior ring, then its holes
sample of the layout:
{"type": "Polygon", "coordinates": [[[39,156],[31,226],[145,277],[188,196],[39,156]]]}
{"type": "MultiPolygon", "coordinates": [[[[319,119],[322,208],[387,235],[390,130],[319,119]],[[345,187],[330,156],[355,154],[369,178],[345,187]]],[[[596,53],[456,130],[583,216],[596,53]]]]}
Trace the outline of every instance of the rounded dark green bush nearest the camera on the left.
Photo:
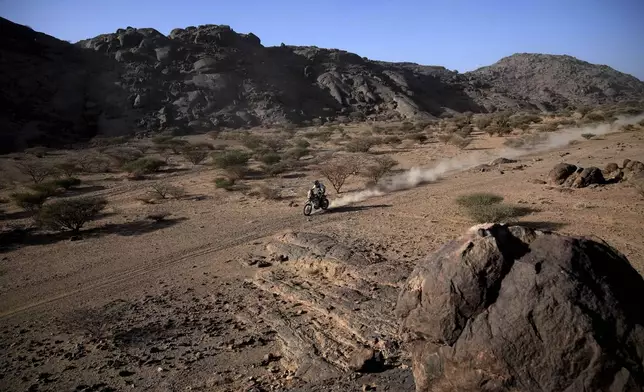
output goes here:
{"type": "Polygon", "coordinates": [[[96,219],[107,205],[104,198],[79,198],[58,200],[40,209],[37,221],[52,230],[78,232],[85,223],[96,219]]]}

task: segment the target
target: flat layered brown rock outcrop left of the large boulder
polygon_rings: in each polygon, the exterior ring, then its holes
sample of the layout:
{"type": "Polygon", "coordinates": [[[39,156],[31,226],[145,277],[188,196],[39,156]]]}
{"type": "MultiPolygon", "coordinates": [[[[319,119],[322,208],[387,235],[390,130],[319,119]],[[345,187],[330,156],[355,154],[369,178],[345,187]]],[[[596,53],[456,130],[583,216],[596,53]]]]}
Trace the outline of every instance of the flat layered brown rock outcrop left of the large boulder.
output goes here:
{"type": "Polygon", "coordinates": [[[276,331],[282,365],[306,382],[399,364],[393,314],[410,270],[329,236],[290,232],[267,245],[272,266],[252,283],[262,296],[248,318],[276,331]]]}

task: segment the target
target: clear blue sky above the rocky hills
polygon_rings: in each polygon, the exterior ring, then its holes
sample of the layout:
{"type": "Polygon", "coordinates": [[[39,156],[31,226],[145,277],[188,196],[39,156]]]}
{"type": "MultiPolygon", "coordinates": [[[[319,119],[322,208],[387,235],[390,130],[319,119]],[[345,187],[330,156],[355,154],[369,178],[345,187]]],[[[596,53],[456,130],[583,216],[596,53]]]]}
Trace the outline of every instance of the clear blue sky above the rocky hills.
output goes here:
{"type": "Polygon", "coordinates": [[[516,52],[569,54],[644,80],[644,0],[0,0],[0,15],[73,42],[126,26],[227,24],[265,46],[460,72],[516,52]]]}

